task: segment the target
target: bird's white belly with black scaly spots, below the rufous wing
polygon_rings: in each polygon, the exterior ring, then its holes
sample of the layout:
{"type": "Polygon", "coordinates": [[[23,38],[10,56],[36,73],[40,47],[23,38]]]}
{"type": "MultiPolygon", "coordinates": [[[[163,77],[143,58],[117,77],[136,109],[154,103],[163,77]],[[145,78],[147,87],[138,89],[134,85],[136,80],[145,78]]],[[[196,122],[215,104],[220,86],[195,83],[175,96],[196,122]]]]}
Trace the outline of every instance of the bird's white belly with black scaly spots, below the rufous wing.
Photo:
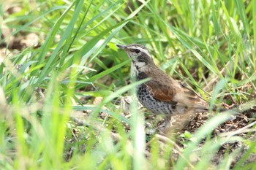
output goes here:
{"type": "Polygon", "coordinates": [[[138,100],[143,107],[146,107],[154,114],[171,114],[175,106],[164,101],[159,101],[155,99],[149,91],[146,89],[145,85],[140,85],[137,89],[138,100]]]}

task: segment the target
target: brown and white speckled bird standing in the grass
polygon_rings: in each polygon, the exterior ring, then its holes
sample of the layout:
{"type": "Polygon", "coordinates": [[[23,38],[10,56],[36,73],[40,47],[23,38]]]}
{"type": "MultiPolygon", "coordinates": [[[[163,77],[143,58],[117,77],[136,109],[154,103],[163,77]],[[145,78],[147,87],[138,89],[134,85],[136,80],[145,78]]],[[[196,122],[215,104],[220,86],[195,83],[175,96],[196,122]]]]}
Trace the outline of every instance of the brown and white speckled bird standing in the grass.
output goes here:
{"type": "Polygon", "coordinates": [[[137,87],[138,100],[154,114],[165,115],[165,131],[170,126],[170,117],[178,115],[174,130],[181,130],[187,121],[197,112],[208,111],[208,102],[189,88],[184,87],[159,69],[143,45],[117,45],[132,59],[131,69],[137,80],[151,79],[137,87]]]}

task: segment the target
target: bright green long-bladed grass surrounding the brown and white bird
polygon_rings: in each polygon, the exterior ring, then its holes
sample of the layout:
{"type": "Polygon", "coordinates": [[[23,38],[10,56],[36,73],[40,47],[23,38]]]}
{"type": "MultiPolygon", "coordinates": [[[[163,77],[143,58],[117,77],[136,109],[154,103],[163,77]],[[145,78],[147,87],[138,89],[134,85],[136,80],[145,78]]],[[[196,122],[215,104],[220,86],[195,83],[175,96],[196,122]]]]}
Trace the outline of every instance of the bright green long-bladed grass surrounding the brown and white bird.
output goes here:
{"type": "Polygon", "coordinates": [[[142,82],[129,83],[130,61],[116,47],[146,45],[161,69],[212,106],[235,101],[249,109],[256,104],[255,0],[12,1],[0,7],[0,169],[255,169],[246,163],[255,154],[249,136],[210,137],[230,113],[185,137],[184,148],[175,139],[153,139],[146,151],[154,135],[145,135],[138,104],[131,103],[130,117],[119,104],[142,82]],[[31,33],[38,45],[16,40],[31,33]],[[211,158],[228,142],[249,149],[236,151],[241,158],[234,165],[236,154],[226,152],[215,166],[211,158]]]}

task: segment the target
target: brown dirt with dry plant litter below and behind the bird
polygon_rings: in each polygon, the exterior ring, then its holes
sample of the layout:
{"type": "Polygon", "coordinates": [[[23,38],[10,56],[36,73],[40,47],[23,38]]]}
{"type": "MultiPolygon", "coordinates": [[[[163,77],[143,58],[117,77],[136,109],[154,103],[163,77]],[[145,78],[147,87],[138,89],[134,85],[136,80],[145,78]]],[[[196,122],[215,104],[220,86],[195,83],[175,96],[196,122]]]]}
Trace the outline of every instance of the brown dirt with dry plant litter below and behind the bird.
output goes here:
{"type": "MultiPolygon", "coordinates": [[[[124,109],[124,117],[129,118],[131,115],[129,113],[129,107],[127,104],[131,104],[132,98],[121,98],[120,105],[124,109]]],[[[119,109],[119,108],[117,108],[119,109]]],[[[140,106],[140,109],[143,109],[143,107],[140,106]]],[[[84,113],[83,113],[84,114],[84,113]]],[[[89,112],[87,113],[88,115],[90,114],[89,112]]],[[[221,114],[221,113],[219,113],[221,114]]],[[[256,125],[256,107],[252,107],[250,109],[247,109],[244,112],[241,112],[238,115],[234,115],[230,120],[225,121],[225,123],[222,123],[221,125],[218,125],[217,128],[214,129],[214,131],[211,134],[211,137],[214,138],[216,136],[222,137],[222,138],[227,138],[230,136],[241,136],[244,139],[248,139],[249,141],[255,141],[256,136],[255,136],[255,125],[256,125]]],[[[146,139],[147,139],[147,144],[146,144],[146,150],[145,150],[145,155],[147,158],[150,158],[150,150],[151,150],[151,139],[154,136],[154,138],[157,138],[157,141],[159,142],[160,147],[162,146],[163,150],[165,150],[165,145],[167,143],[172,143],[174,145],[174,150],[173,150],[173,155],[172,155],[172,160],[176,161],[178,159],[178,156],[182,152],[182,150],[186,147],[184,143],[186,143],[186,140],[184,137],[181,137],[182,134],[185,134],[187,132],[194,134],[195,131],[197,131],[198,128],[202,127],[209,118],[213,117],[214,115],[209,114],[209,113],[199,113],[195,117],[192,118],[192,120],[184,127],[182,131],[179,131],[176,133],[176,139],[175,141],[169,139],[167,136],[162,135],[159,132],[159,125],[163,123],[162,117],[152,115],[152,114],[147,114],[145,113],[145,121],[146,121],[146,139]]],[[[98,116],[102,121],[108,117],[110,119],[110,115],[101,112],[99,113],[98,116]]],[[[83,123],[82,123],[83,124],[83,123]]],[[[80,124],[80,125],[82,125],[80,124]]],[[[123,123],[125,131],[129,132],[130,127],[128,124],[123,123]]],[[[95,126],[94,128],[97,129],[97,131],[101,131],[99,126],[95,126]],[[96,128],[97,127],[97,128],[96,128]]],[[[114,129],[113,126],[113,131],[112,131],[112,136],[115,137],[115,141],[118,141],[121,139],[121,136],[116,134],[116,129],[114,129]]],[[[153,138],[153,139],[154,139],[153,138]]],[[[131,142],[131,141],[127,141],[131,142]]],[[[200,161],[200,157],[197,156],[197,152],[199,154],[201,148],[203,148],[205,140],[201,141],[200,144],[197,146],[198,150],[193,152],[196,156],[192,159],[189,160],[190,163],[194,164],[200,161]]],[[[233,155],[233,160],[231,163],[230,168],[232,169],[233,166],[236,166],[236,163],[244,156],[246,151],[249,149],[249,146],[245,144],[244,142],[241,141],[235,141],[235,142],[225,142],[222,144],[221,147],[217,150],[217,152],[208,153],[211,155],[211,166],[218,166],[219,163],[222,162],[222,160],[225,158],[226,154],[233,155]]],[[[161,151],[160,151],[161,155],[161,151]]],[[[248,163],[254,163],[256,162],[256,155],[254,153],[251,153],[244,161],[243,165],[246,165],[248,163]]],[[[191,165],[192,166],[192,165],[191,165]]]]}

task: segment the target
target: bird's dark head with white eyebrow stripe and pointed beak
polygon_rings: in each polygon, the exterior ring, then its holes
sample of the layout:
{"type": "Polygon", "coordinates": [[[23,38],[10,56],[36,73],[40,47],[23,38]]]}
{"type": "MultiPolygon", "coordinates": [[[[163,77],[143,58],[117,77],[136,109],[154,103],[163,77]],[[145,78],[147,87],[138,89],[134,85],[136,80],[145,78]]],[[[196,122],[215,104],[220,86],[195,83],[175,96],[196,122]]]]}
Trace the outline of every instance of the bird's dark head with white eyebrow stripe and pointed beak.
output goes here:
{"type": "Polygon", "coordinates": [[[132,64],[138,71],[146,72],[155,66],[148,49],[143,45],[131,44],[116,46],[124,50],[129,55],[129,58],[132,59],[132,64]]]}

